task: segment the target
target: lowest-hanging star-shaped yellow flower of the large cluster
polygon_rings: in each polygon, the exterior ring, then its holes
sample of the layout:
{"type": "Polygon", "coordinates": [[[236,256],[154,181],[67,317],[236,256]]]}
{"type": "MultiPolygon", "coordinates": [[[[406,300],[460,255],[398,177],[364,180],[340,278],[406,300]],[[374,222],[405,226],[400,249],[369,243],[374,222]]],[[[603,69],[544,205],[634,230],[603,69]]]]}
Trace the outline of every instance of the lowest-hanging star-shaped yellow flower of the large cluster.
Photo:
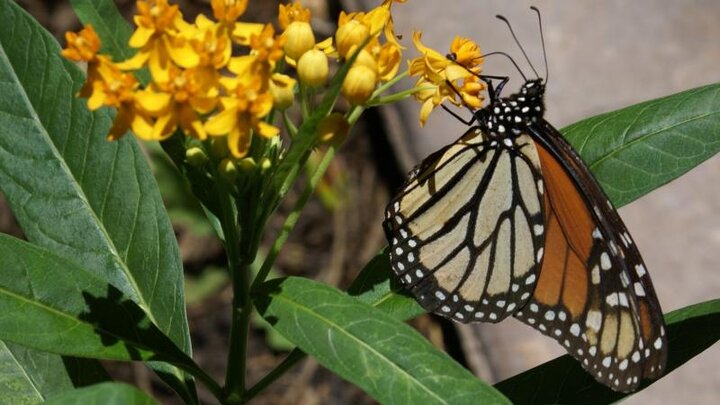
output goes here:
{"type": "Polygon", "coordinates": [[[280,133],[278,128],[262,120],[270,113],[273,99],[270,93],[259,93],[258,89],[258,83],[251,87],[239,84],[233,97],[220,99],[222,110],[205,124],[205,130],[210,135],[227,135],[230,152],[237,158],[247,154],[253,133],[266,138],[280,133]]]}

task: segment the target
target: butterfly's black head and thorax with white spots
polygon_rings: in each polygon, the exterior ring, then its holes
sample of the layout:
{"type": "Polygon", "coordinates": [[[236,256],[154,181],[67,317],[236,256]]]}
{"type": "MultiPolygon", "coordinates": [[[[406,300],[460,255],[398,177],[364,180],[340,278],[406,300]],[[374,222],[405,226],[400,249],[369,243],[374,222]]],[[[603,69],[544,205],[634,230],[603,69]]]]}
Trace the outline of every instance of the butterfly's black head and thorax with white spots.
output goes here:
{"type": "Polygon", "coordinates": [[[492,101],[483,110],[481,125],[497,136],[518,135],[545,113],[542,79],[528,80],[515,94],[492,101]]]}

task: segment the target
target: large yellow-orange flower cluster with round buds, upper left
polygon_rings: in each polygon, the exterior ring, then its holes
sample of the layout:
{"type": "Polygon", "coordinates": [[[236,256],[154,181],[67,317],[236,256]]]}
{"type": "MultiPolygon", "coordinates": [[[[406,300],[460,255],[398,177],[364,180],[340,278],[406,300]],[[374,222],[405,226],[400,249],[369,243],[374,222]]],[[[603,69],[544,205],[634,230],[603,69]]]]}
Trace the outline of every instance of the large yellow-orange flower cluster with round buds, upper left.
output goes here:
{"type": "Polygon", "coordinates": [[[164,140],[180,130],[200,141],[226,137],[232,156],[242,158],[253,135],[279,134],[270,112],[294,103],[297,82],[281,73],[286,66],[295,68],[301,86],[319,88],[328,81],[329,57],[342,61],[358,53],[342,86],[353,105],[365,103],[396,75],[401,48],[392,32],[393,2],[404,0],[385,0],[368,13],[343,13],[334,38],[316,42],[310,11],[299,3],[280,6],[282,32],[276,34],[271,24],[238,21],[247,0],[211,0],[215,19],[199,15],[192,24],[168,0],[139,0],[129,41],[133,57],[113,62],[98,54],[92,26],[67,33],[63,55],[87,63],[80,95],[88,107],[117,109],[109,139],[132,130],[144,140],[164,140]],[[152,76],[145,87],[135,76],[144,68],[152,76]]]}

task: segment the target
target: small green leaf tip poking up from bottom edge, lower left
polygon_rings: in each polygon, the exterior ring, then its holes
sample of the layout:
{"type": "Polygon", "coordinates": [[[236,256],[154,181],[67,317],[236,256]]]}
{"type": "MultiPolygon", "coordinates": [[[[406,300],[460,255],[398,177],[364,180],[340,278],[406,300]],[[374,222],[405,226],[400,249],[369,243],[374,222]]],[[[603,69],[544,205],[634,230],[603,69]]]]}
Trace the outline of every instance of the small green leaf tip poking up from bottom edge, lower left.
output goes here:
{"type": "Polygon", "coordinates": [[[132,385],[108,382],[76,389],[58,395],[45,402],[48,405],[159,405],[148,394],[132,385]]]}

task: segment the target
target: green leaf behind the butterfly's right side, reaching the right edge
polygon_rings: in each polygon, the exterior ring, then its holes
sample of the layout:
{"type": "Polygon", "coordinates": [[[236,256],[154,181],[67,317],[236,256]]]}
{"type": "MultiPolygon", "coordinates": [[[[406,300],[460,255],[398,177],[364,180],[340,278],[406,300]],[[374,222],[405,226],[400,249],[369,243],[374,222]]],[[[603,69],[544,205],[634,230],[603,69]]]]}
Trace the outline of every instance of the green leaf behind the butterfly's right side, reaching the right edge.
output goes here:
{"type": "Polygon", "coordinates": [[[620,207],[720,151],[720,84],[588,118],[562,133],[620,207]]]}

